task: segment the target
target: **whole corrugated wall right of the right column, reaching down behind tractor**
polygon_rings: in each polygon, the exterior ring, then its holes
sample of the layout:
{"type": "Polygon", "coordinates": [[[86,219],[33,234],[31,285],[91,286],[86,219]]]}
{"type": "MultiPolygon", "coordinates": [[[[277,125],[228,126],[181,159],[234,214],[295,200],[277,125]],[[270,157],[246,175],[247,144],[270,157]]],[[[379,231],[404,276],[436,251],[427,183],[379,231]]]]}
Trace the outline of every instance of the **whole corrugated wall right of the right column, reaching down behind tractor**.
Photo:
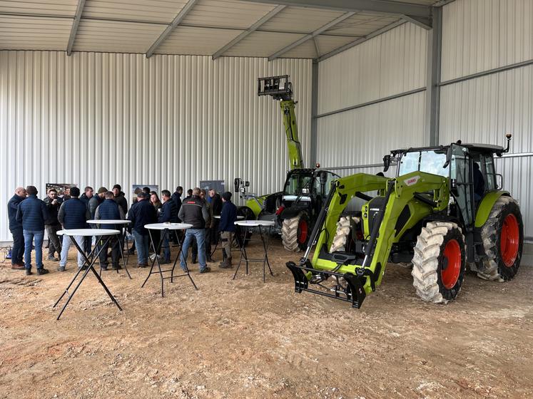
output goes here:
{"type": "MultiPolygon", "coordinates": [[[[457,0],[443,9],[442,81],[533,59],[533,1],[457,0]]],[[[504,144],[533,152],[533,66],[502,71],[441,88],[440,142],[504,144]]],[[[504,189],[522,207],[533,237],[533,159],[497,162],[504,189]]]]}

